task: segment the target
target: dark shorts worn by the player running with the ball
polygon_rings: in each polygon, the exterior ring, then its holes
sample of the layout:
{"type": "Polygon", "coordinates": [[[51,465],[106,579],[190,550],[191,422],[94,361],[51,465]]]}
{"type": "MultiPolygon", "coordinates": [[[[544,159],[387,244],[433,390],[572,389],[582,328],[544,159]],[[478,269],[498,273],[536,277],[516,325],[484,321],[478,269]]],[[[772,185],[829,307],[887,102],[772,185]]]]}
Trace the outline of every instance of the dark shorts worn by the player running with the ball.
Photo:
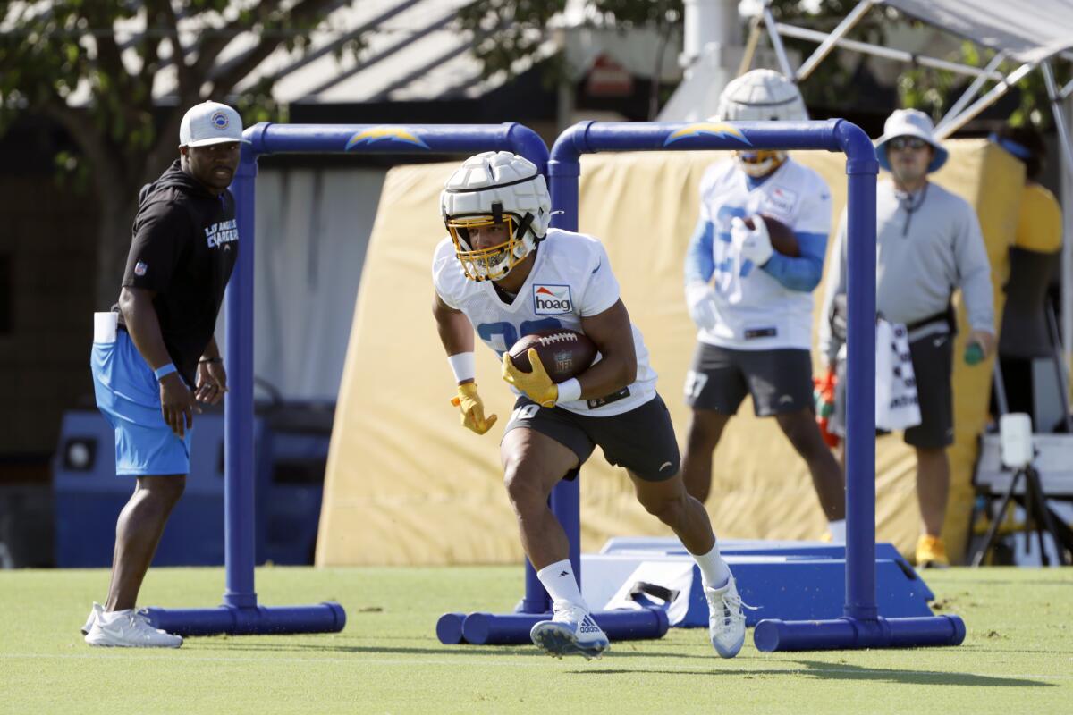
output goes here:
{"type": "MultiPolygon", "coordinates": [[[[584,464],[597,445],[604,458],[645,481],[663,481],[678,474],[678,441],[671,413],[660,396],[640,407],[611,417],[577,415],[562,407],[541,407],[523,396],[514,403],[511,421],[503,430],[525,428],[547,435],[577,455],[584,464]]],[[[573,479],[576,471],[567,475],[573,479]]]]}

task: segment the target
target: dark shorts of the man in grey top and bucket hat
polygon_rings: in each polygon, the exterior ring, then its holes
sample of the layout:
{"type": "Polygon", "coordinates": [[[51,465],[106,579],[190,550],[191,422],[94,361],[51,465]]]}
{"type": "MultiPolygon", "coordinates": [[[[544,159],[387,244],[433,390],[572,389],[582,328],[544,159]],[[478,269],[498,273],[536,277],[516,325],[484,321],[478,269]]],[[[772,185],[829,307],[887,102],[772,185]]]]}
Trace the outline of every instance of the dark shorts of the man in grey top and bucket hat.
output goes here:
{"type": "MultiPolygon", "coordinates": [[[[906,430],[906,444],[935,449],[954,444],[954,393],[951,373],[954,369],[954,337],[932,333],[909,343],[916,379],[921,423],[906,430]]],[[[839,364],[835,388],[835,413],[832,432],[846,436],[846,364],[839,364]]]]}

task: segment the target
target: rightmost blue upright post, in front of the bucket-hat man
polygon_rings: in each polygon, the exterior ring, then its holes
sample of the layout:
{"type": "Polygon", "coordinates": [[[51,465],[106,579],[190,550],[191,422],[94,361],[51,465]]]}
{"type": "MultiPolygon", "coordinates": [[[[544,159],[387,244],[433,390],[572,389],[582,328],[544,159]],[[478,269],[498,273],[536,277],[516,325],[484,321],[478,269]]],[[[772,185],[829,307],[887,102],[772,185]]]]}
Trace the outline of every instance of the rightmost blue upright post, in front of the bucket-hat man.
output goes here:
{"type": "Polygon", "coordinates": [[[846,615],[870,621],[876,606],[876,175],[871,141],[841,134],[848,160],[846,615]]]}

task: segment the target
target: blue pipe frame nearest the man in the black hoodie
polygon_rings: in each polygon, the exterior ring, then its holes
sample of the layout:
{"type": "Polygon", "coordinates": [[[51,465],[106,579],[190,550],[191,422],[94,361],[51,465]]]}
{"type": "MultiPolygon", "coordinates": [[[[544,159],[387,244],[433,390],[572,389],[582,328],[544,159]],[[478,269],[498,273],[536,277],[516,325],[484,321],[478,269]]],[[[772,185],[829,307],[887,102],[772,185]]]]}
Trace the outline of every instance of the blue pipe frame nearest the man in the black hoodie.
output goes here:
{"type": "MultiPolygon", "coordinates": [[[[232,192],[236,198],[238,262],[227,286],[226,368],[232,376],[224,402],[225,591],[218,608],[148,609],[157,628],[181,636],[214,634],[336,632],[347,625],[339,604],[264,607],[253,586],[253,240],[258,158],[268,153],[476,153],[508,150],[547,167],[547,146],[517,123],[466,125],[273,124],[242,136],[232,192]]],[[[530,567],[531,570],[531,567],[530,567]]],[[[538,582],[539,585],[539,582],[538,582]]]]}

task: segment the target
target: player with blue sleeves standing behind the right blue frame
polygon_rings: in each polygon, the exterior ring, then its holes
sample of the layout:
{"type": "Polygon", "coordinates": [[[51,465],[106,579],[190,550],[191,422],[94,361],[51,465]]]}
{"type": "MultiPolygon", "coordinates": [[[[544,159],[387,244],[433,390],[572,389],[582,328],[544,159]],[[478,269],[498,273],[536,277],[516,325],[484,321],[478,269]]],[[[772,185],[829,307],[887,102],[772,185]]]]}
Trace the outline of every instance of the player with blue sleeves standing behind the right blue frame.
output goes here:
{"type": "MultiPolygon", "coordinates": [[[[719,121],[805,120],[797,87],[770,70],[726,86],[719,121]]],[[[832,537],[846,540],[841,471],[812,407],[812,291],[831,230],[831,192],[784,151],[739,150],[701,179],[701,211],[686,256],[686,301],[697,347],[686,378],[693,414],[682,458],[689,493],[704,502],[711,452],[747,393],[758,417],[775,417],[808,463],[832,537]],[[767,214],[790,226],[800,256],[771,248],[767,214]]]]}

